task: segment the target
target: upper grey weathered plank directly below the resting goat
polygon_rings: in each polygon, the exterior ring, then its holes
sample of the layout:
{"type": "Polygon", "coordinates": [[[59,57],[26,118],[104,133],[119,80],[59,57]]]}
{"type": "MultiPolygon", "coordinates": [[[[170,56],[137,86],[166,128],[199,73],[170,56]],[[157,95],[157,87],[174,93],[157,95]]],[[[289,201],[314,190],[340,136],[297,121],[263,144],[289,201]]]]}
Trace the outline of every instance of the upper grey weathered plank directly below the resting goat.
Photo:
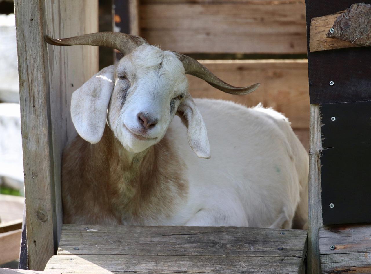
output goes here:
{"type": "Polygon", "coordinates": [[[306,231],[252,227],[63,225],[59,255],[302,256],[306,231]],[[130,235],[130,237],[127,237],[130,235]]]}

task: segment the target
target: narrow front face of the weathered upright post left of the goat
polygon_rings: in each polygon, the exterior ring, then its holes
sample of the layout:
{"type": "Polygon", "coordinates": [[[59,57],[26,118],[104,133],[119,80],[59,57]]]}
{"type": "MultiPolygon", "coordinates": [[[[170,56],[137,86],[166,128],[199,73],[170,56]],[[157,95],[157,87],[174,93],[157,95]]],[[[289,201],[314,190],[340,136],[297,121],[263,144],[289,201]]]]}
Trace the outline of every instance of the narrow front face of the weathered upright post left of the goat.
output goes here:
{"type": "Polygon", "coordinates": [[[22,123],[29,266],[54,254],[54,167],[43,1],[14,2],[22,123]]]}

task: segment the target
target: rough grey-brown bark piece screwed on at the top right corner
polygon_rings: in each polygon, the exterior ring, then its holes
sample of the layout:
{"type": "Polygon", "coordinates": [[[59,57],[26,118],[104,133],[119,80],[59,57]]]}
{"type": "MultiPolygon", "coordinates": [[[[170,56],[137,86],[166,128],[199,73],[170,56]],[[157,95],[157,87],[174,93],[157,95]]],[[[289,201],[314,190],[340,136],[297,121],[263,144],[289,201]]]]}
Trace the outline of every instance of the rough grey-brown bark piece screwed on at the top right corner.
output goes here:
{"type": "Polygon", "coordinates": [[[371,5],[353,4],[340,14],[327,37],[349,41],[357,46],[371,45],[371,5]]]}

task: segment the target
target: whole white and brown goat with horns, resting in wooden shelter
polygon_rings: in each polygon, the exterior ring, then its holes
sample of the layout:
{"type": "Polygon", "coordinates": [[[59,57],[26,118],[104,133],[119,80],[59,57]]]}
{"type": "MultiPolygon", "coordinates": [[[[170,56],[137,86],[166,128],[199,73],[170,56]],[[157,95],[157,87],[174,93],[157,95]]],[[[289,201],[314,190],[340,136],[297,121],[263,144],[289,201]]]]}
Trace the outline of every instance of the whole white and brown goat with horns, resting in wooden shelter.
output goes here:
{"type": "Polygon", "coordinates": [[[306,224],[308,154],[288,119],[261,106],[193,100],[185,74],[232,94],[259,84],[230,86],[196,60],[128,34],[45,40],[124,54],[72,94],[79,136],[63,152],[65,223],[306,224]],[[202,159],[210,158],[210,146],[213,158],[202,159]]]}

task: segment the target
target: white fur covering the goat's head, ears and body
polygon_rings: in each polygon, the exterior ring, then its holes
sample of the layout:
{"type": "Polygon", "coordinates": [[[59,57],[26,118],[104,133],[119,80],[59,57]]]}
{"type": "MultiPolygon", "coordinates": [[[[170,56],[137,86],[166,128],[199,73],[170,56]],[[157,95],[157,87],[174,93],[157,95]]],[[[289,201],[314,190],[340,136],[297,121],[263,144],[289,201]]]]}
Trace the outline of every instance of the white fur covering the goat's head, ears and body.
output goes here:
{"type": "Polygon", "coordinates": [[[141,46],[74,93],[73,122],[82,138],[96,143],[108,107],[108,124],[128,155],[144,151],[165,134],[176,144],[173,149],[186,166],[188,194],[185,201],[179,200],[175,214],[153,224],[291,228],[299,208],[303,225],[308,213],[308,154],[287,118],[260,106],[193,101],[187,89],[184,68],[174,53],[141,46]],[[126,78],[120,78],[124,74],[126,78]],[[180,94],[184,97],[176,98],[180,94]],[[138,122],[137,114],[143,111],[158,119],[147,131],[138,122]],[[175,113],[183,117],[188,134],[175,113]],[[210,154],[210,159],[201,159],[210,154]]]}

